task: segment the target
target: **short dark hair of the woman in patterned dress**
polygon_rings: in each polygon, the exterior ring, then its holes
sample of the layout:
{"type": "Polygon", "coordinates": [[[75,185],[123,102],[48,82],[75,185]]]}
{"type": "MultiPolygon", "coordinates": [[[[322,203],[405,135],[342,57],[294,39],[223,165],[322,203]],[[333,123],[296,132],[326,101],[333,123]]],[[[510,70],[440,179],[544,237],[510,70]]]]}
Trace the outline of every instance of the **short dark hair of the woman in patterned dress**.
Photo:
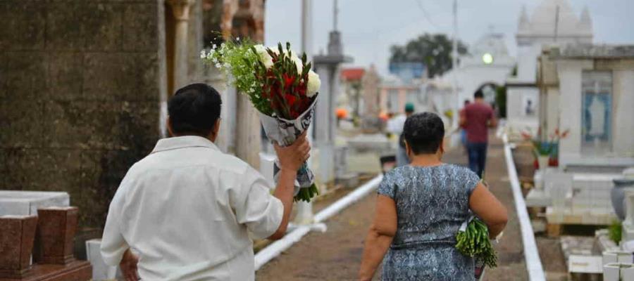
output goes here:
{"type": "Polygon", "coordinates": [[[407,117],[403,135],[415,155],[435,153],[445,138],[445,124],[432,112],[416,113],[407,117]]]}

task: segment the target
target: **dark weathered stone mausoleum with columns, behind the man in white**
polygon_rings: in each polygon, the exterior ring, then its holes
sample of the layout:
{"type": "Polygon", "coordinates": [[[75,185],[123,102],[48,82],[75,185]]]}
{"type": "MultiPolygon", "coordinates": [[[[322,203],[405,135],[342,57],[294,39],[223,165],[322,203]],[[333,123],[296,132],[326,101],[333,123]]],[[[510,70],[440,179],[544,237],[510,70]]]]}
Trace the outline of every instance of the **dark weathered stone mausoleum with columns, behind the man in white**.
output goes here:
{"type": "Polygon", "coordinates": [[[263,0],[0,1],[0,190],[68,192],[79,234],[99,236],[125,172],[166,135],[166,100],[193,81],[223,95],[220,147],[258,166],[255,112],[199,52],[262,41],[263,15],[263,0]]]}

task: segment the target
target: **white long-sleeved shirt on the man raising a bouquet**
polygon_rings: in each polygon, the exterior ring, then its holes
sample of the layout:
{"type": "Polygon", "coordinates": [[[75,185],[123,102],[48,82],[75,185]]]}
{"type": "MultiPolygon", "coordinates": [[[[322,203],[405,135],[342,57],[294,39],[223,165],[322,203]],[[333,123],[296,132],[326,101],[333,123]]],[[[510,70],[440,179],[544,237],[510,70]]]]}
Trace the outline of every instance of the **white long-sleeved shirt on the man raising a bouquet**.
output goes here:
{"type": "Polygon", "coordinates": [[[114,258],[124,242],[139,252],[144,280],[253,280],[247,228],[268,237],[282,219],[282,204],[267,186],[205,138],[161,140],[113,198],[104,258],[114,258]]]}

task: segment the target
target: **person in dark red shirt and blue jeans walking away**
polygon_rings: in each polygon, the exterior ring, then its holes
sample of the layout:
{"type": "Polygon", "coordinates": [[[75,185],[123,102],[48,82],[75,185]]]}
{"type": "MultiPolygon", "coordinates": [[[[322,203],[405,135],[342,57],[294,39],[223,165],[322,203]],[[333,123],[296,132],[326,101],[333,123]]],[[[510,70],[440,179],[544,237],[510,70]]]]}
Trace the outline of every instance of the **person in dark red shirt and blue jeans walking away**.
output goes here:
{"type": "Polygon", "coordinates": [[[473,94],[474,102],[460,112],[460,126],[466,131],[469,169],[482,178],[487,161],[490,127],[497,126],[495,113],[484,100],[482,89],[473,94]]]}

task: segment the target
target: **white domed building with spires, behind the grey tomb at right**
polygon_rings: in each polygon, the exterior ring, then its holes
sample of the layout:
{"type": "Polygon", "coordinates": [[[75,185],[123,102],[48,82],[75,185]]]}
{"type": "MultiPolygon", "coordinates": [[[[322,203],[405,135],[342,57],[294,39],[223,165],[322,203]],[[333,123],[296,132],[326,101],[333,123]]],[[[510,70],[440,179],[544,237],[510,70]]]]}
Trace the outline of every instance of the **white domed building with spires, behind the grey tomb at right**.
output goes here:
{"type": "Polygon", "coordinates": [[[569,0],[544,0],[530,18],[522,8],[518,21],[518,62],[516,76],[506,80],[506,117],[511,128],[536,128],[540,98],[535,73],[542,46],[591,44],[592,20],[588,8],[577,16],[569,0]]]}

